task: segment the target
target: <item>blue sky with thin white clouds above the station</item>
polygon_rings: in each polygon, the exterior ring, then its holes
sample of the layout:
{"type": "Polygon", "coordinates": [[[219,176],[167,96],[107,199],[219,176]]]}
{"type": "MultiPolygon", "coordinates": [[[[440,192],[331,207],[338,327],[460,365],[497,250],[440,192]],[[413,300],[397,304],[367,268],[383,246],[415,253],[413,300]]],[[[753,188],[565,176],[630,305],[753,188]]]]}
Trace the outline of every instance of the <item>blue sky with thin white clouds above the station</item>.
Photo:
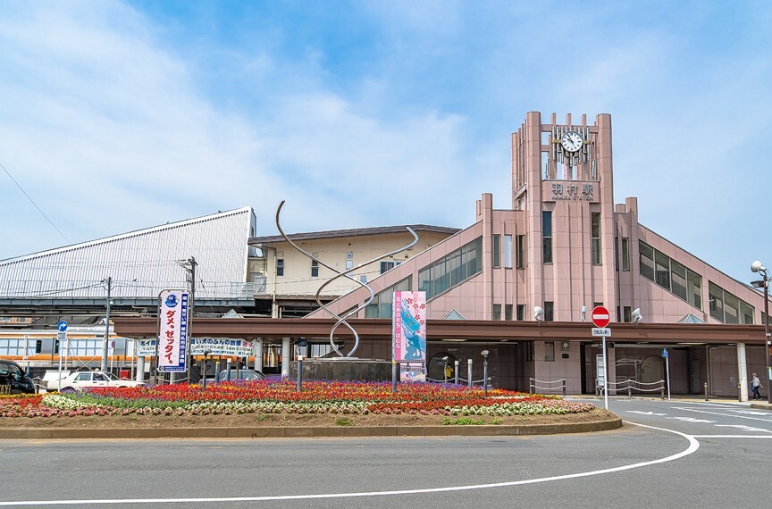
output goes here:
{"type": "Polygon", "coordinates": [[[258,234],[462,228],[529,111],[610,113],[615,199],[772,265],[772,4],[0,3],[0,259],[250,205],[258,234]],[[321,213],[320,213],[321,211],[321,213]],[[65,239],[66,237],[66,239],[65,239]]]}

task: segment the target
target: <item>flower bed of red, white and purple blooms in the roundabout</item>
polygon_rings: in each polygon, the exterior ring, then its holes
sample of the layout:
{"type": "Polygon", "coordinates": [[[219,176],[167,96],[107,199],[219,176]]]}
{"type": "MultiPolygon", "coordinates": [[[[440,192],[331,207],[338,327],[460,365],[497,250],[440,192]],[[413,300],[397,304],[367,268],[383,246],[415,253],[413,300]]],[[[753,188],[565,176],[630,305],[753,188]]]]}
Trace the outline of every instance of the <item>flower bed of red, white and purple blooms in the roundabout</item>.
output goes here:
{"type": "Polygon", "coordinates": [[[0,396],[0,417],[78,415],[207,415],[232,413],[351,413],[436,415],[525,415],[590,412],[595,405],[558,396],[452,384],[249,380],[207,386],[99,388],[71,394],[0,396]]]}

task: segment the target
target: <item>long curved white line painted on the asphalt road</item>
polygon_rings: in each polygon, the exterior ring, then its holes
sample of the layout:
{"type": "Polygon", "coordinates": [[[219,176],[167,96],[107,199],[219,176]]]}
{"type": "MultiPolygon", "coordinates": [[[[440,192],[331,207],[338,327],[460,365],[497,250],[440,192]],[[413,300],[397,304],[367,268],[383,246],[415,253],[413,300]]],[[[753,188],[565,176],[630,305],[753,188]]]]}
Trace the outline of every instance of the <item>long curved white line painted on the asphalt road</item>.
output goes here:
{"type": "Polygon", "coordinates": [[[666,428],[657,428],[647,426],[638,422],[624,421],[626,424],[634,424],[650,430],[666,431],[689,440],[689,446],[680,453],[669,455],[658,460],[651,460],[642,463],[633,463],[629,465],[618,466],[614,468],[583,471],[579,473],[569,473],[566,475],[555,475],[552,477],[542,477],[529,480],[512,480],[508,482],[493,482],[490,484],[472,484],[467,486],[449,486],[447,488],[422,488],[422,489],[397,489],[391,491],[363,491],[358,493],[323,493],[316,495],[277,495],[277,496],[210,496],[202,498],[119,498],[119,499],[101,499],[101,500],[22,500],[18,502],[0,502],[0,506],[13,505],[106,505],[106,504],[185,504],[201,502],[262,502],[267,500],[312,500],[319,498],[350,498],[355,496],[391,496],[391,495],[413,495],[417,493],[441,493],[445,491],[466,491],[470,489],[501,488],[505,486],[520,486],[524,484],[536,484],[540,482],[549,482],[550,480],[577,479],[580,477],[590,477],[615,471],[625,471],[634,468],[641,468],[658,463],[672,462],[684,456],[691,455],[700,448],[700,442],[691,435],[686,435],[680,431],[667,430],[666,428]]]}

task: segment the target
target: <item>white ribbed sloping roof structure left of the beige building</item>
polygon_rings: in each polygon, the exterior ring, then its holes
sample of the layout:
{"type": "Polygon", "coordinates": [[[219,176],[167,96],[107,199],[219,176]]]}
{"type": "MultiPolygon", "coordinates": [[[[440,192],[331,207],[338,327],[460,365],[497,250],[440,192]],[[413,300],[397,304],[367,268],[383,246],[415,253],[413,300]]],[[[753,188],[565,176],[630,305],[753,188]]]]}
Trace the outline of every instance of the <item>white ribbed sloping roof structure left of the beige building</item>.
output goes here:
{"type": "MultiPolygon", "coordinates": [[[[240,296],[247,284],[251,207],[139,229],[0,261],[0,297],[156,297],[188,288],[183,262],[196,259],[196,296],[240,296]]],[[[251,296],[251,294],[249,295],[251,296]]]]}

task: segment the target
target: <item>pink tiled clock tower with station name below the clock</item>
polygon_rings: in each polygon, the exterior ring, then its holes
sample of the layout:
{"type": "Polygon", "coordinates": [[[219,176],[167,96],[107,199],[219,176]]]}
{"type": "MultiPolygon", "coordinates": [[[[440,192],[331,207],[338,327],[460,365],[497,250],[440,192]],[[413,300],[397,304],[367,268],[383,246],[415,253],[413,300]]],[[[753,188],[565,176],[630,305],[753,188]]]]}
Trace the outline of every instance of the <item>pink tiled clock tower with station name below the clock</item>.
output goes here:
{"type": "Polygon", "coordinates": [[[592,125],[526,115],[512,135],[512,208],[524,213],[530,305],[554,305],[574,321],[582,306],[606,305],[616,319],[611,117],[592,125]]]}

